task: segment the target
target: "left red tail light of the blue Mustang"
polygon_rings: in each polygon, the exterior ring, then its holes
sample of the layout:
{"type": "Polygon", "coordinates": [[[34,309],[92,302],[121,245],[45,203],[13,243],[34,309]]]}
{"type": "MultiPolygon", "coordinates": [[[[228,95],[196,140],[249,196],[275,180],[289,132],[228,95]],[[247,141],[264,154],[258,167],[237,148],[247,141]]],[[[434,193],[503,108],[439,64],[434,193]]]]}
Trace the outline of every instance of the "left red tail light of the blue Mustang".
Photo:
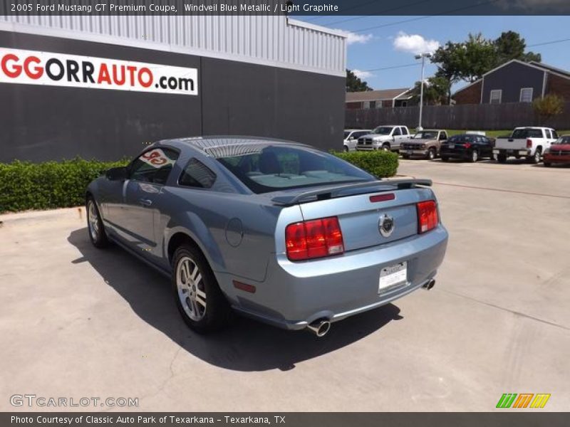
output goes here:
{"type": "Polygon", "coordinates": [[[289,224],[285,244],[287,258],[294,261],[344,253],[343,233],[336,216],[289,224]]]}

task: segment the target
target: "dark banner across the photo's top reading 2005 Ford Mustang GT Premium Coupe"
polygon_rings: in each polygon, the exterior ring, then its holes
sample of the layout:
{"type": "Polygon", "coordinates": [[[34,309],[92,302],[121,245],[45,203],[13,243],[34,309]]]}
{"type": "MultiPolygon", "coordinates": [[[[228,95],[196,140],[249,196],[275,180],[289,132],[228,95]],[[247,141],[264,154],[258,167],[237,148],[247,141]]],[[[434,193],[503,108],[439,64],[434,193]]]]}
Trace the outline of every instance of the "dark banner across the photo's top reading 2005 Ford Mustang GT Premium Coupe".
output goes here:
{"type": "Polygon", "coordinates": [[[0,0],[0,15],[566,15],[568,0],[0,0]]]}

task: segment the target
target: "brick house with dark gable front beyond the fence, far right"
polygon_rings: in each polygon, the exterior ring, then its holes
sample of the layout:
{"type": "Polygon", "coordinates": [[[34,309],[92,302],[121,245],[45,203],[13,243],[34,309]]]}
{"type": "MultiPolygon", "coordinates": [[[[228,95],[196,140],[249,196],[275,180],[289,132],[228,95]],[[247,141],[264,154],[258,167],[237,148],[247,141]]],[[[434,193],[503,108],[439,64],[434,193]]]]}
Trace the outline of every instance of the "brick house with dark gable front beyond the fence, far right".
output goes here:
{"type": "Polygon", "coordinates": [[[532,102],[556,94],[570,101],[570,73],[543,63],[513,59],[452,95],[456,104],[532,102]]]}

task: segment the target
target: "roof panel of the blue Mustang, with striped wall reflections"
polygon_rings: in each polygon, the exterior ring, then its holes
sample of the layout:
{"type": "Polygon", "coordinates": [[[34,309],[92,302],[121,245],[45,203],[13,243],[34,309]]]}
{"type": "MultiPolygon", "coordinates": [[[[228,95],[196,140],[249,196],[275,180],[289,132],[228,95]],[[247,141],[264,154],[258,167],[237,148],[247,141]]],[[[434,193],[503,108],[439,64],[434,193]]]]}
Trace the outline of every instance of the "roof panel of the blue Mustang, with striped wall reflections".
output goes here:
{"type": "Polygon", "coordinates": [[[310,145],[286,139],[235,135],[208,135],[207,137],[162,139],[161,141],[156,142],[156,144],[170,145],[177,148],[190,147],[212,157],[224,157],[247,154],[249,152],[259,152],[261,148],[266,147],[268,144],[315,149],[315,147],[311,147],[310,145]]]}

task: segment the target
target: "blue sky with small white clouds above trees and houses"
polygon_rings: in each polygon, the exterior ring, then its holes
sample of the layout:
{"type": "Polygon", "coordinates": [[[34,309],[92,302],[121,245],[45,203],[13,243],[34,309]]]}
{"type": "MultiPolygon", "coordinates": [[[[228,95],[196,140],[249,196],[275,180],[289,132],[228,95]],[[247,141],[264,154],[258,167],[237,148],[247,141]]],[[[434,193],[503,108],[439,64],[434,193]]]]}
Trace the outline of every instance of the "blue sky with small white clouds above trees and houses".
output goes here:
{"type": "MultiPolygon", "coordinates": [[[[469,33],[497,38],[516,31],[527,42],[527,51],[541,53],[542,62],[570,70],[570,40],[543,46],[531,45],[570,39],[570,16],[305,16],[309,23],[346,31],[348,69],[374,89],[410,88],[420,80],[415,53],[433,51],[447,41],[465,41],[469,33]],[[372,28],[381,26],[380,28],[372,28]],[[398,67],[377,70],[378,68],[398,67]]],[[[427,63],[425,77],[435,73],[427,63]]],[[[457,90],[467,83],[457,83],[457,90]]]]}

